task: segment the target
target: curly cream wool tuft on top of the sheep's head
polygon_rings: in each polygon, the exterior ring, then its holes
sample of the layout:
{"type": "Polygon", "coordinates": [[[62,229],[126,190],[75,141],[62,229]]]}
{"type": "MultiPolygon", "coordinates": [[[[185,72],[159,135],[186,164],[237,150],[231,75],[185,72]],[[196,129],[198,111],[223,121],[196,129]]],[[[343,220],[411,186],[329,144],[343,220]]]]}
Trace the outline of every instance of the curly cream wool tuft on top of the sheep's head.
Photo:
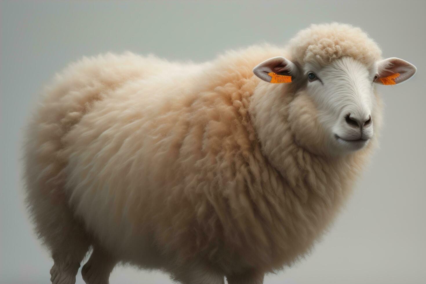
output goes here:
{"type": "Polygon", "coordinates": [[[353,57],[370,66],[381,59],[377,43],[360,28],[348,24],[311,25],[296,34],[288,46],[292,60],[304,64],[317,61],[328,64],[344,56],[353,57]]]}

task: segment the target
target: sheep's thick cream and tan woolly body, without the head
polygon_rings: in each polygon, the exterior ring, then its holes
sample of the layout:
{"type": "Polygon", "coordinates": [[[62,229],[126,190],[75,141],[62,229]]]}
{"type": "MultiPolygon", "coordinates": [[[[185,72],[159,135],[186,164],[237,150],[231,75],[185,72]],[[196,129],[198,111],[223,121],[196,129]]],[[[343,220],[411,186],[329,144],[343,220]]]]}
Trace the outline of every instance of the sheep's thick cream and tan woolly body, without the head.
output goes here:
{"type": "MultiPolygon", "coordinates": [[[[262,275],[305,254],[374,141],[340,158],[296,143],[315,128],[311,99],[251,71],[287,54],[254,46],[202,65],[105,55],[66,69],[26,146],[27,200],[55,264],[81,261],[92,244],[112,267],[130,262],[190,283],[188,271],[262,275]],[[266,112],[285,121],[279,136],[266,112]]],[[[54,266],[53,280],[66,269],[54,266]]]]}

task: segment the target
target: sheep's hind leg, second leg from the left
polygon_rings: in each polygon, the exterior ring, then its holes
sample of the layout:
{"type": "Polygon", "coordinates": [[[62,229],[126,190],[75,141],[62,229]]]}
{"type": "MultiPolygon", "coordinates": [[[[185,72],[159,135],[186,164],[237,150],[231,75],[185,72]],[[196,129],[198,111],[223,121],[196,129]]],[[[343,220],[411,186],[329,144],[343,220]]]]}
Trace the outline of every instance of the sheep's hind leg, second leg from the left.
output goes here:
{"type": "Polygon", "coordinates": [[[87,284],[108,284],[109,274],[115,267],[117,261],[112,255],[101,247],[93,247],[89,261],[83,265],[81,275],[87,284]]]}

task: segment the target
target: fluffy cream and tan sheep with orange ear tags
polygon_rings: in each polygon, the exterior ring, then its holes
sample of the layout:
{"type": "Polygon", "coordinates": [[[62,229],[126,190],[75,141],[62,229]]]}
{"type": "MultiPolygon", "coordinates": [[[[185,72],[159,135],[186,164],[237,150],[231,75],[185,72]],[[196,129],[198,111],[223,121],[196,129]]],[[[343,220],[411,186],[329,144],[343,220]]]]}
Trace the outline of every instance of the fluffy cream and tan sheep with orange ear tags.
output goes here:
{"type": "Polygon", "coordinates": [[[184,284],[263,283],[309,253],[350,195],[377,145],[376,83],[415,72],[339,23],[202,64],[73,63],[43,91],[24,146],[52,283],[75,283],[90,248],[90,284],[120,262],[184,284]]]}

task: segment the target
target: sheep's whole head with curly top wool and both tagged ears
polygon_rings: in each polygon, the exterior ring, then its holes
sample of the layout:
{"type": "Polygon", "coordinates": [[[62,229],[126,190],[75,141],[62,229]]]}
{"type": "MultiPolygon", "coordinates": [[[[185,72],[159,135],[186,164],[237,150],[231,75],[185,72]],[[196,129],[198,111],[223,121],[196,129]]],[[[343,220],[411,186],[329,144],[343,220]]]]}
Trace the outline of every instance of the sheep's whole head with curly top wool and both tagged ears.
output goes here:
{"type": "Polygon", "coordinates": [[[380,120],[376,84],[399,84],[416,72],[405,60],[381,60],[374,41],[348,25],[312,26],[291,41],[290,50],[290,58],[273,57],[253,72],[271,83],[279,80],[275,74],[291,76],[292,87],[285,91],[296,98],[289,109],[296,140],[311,149],[322,141],[319,151],[331,154],[362,149],[374,138],[375,120],[380,120]]]}

